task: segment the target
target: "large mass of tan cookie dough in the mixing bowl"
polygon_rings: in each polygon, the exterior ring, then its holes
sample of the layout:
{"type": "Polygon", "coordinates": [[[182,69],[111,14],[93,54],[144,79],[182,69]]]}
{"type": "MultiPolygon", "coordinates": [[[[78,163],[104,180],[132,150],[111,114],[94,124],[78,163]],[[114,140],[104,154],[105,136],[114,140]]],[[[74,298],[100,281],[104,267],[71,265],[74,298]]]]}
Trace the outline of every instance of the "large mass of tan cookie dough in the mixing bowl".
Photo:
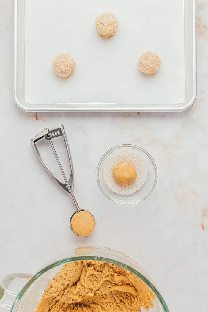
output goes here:
{"type": "Polygon", "coordinates": [[[66,263],[50,281],[36,312],[141,312],[155,295],[133,273],[103,261],[66,263]]]}

